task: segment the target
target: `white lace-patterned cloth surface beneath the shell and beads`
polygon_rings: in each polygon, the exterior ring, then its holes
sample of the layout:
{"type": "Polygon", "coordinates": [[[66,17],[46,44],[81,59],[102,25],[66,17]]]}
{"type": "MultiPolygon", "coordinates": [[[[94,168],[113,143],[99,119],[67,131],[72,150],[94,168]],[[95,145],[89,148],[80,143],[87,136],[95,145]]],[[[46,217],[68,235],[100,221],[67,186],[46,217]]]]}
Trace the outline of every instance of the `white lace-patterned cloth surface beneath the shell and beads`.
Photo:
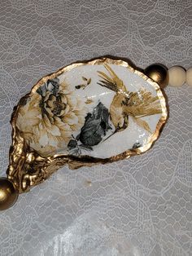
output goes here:
{"type": "MultiPolygon", "coordinates": [[[[1,0],[0,166],[11,112],[37,80],[72,61],[128,57],[191,65],[190,0],[1,0]]],[[[0,213],[1,256],[192,255],[192,88],[167,88],[170,117],[139,157],[68,170],[0,213]],[[90,183],[91,182],[91,183],[90,183]]]]}

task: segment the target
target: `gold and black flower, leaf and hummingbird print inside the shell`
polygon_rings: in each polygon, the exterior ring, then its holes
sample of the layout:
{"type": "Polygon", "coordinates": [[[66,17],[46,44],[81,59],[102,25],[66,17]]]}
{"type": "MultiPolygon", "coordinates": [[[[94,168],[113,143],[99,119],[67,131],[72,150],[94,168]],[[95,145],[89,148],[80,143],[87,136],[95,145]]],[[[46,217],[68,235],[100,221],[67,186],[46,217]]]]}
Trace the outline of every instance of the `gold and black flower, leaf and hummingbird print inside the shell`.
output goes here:
{"type": "MultiPolygon", "coordinates": [[[[59,82],[59,78],[48,80],[27,99],[20,107],[16,126],[31,148],[42,156],[66,151],[81,156],[94,151],[96,145],[112,135],[129,129],[129,118],[151,133],[142,117],[161,113],[158,96],[145,89],[129,91],[108,64],[104,68],[107,73],[98,71],[98,82],[93,86],[104,86],[114,92],[110,108],[100,100],[89,99],[86,92],[85,97],[76,94],[92,85],[91,77],[82,77],[75,86],[59,82]]],[[[142,144],[136,140],[132,148],[139,147],[142,144]]]]}

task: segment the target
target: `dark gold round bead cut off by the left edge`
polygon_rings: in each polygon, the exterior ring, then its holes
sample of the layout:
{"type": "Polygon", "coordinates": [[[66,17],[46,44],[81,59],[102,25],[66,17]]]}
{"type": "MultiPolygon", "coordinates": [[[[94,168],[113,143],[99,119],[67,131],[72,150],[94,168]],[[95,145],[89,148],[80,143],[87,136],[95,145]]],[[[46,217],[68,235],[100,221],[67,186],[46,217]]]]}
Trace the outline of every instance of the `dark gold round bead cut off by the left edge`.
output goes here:
{"type": "Polygon", "coordinates": [[[0,178],[0,210],[7,210],[15,204],[19,193],[7,178],[0,178]]]}

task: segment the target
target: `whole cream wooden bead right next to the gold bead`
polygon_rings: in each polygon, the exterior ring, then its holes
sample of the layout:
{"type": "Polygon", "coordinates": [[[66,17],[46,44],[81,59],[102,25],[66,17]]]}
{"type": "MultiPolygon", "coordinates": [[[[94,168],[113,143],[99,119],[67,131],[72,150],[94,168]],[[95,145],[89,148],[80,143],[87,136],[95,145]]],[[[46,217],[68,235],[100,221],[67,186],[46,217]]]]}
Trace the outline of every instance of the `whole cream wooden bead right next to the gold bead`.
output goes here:
{"type": "Polygon", "coordinates": [[[180,66],[173,66],[168,69],[169,74],[169,86],[179,87],[185,83],[186,72],[184,68],[180,66]]]}

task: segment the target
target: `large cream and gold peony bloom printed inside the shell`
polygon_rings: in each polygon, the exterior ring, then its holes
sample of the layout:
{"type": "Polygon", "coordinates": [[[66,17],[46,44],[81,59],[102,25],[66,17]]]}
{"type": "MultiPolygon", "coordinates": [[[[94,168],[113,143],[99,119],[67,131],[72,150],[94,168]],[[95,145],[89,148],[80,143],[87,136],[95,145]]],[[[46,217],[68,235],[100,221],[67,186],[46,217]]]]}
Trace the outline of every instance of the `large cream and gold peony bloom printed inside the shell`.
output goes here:
{"type": "Polygon", "coordinates": [[[16,125],[31,148],[43,156],[66,148],[85,122],[85,103],[59,78],[48,80],[20,108],[16,125]]]}

